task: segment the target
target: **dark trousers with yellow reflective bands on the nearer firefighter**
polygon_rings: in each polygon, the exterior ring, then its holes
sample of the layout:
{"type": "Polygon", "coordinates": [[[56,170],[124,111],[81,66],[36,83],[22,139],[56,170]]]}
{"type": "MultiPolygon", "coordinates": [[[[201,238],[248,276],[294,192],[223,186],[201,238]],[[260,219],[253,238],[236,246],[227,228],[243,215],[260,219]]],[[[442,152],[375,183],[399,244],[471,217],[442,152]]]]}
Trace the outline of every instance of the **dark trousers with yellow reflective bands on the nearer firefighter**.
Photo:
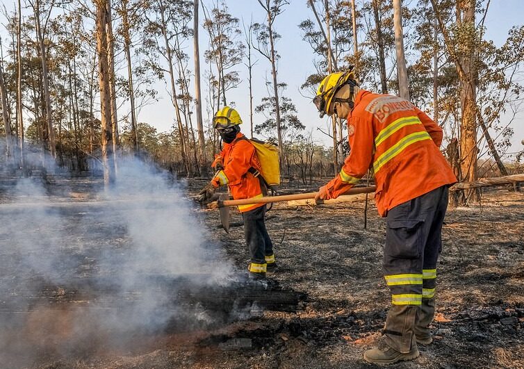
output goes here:
{"type": "MultiPolygon", "coordinates": [[[[448,187],[442,186],[388,212],[384,277],[392,306],[385,333],[386,342],[397,351],[409,352],[416,321],[420,321],[416,315],[420,315],[421,306],[434,302],[436,262],[447,208],[448,187]]],[[[427,317],[429,322],[433,311],[427,317]]]]}

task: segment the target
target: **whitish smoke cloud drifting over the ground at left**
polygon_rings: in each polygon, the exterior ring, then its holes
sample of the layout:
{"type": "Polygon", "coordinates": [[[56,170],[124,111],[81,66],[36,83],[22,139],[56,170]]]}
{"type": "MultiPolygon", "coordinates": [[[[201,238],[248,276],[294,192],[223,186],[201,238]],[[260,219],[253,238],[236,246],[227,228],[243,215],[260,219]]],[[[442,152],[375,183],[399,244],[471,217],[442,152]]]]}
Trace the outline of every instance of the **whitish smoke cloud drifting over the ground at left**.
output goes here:
{"type": "Polygon", "coordinates": [[[67,357],[125,347],[130,332],[173,322],[213,322],[202,306],[177,304],[183,286],[170,284],[227,284],[233,272],[195,205],[165,172],[133,158],[119,159],[117,178],[107,191],[101,179],[63,175],[0,188],[5,367],[38,362],[39,352],[67,357]]]}

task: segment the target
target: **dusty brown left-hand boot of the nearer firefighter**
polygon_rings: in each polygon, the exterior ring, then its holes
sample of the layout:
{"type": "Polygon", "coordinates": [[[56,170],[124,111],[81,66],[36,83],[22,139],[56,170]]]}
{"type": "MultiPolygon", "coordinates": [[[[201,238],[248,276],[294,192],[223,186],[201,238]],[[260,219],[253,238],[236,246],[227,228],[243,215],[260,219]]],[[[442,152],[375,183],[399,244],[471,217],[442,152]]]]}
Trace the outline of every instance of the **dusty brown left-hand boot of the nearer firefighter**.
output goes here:
{"type": "Polygon", "coordinates": [[[384,336],[376,348],[364,352],[364,360],[379,366],[416,359],[419,355],[414,332],[418,307],[393,305],[386,318],[384,336]]]}

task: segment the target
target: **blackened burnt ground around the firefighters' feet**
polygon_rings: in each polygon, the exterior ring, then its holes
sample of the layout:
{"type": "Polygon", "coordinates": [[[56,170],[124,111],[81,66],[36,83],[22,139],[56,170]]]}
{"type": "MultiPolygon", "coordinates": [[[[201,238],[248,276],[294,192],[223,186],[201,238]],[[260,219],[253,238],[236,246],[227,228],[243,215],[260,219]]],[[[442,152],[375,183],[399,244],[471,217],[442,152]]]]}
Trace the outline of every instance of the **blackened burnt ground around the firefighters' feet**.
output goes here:
{"type": "MultiPolygon", "coordinates": [[[[192,183],[189,192],[202,183],[192,183]]],[[[81,182],[76,195],[51,195],[89,203],[95,202],[93,190],[81,182]]],[[[3,195],[0,201],[10,199],[3,195]]],[[[75,265],[83,273],[92,272],[101,247],[120,247],[128,237],[125,229],[108,231],[90,209],[82,211],[83,224],[71,229],[74,234],[64,246],[75,250],[81,260],[75,265]]],[[[75,350],[57,350],[61,339],[71,341],[70,334],[62,337],[67,330],[63,326],[74,317],[65,319],[56,309],[49,315],[40,307],[23,332],[10,332],[25,340],[24,348],[13,352],[31,356],[22,368],[373,368],[361,358],[379,337],[390,297],[381,268],[385,222],[370,202],[363,229],[363,209],[363,203],[298,208],[275,204],[268,213],[279,265],[272,278],[309,295],[296,312],[264,311],[208,327],[131,334],[122,345],[97,345],[90,336],[88,344],[79,341],[75,350]],[[35,332],[40,338],[31,339],[35,332]]],[[[249,255],[238,226],[240,215],[232,212],[236,227],[228,235],[220,229],[218,211],[195,211],[208,229],[209,245],[245,270],[249,255]]],[[[0,217],[1,229],[6,213],[0,217]]],[[[419,347],[415,361],[391,368],[524,368],[524,195],[505,188],[484,190],[480,204],[451,208],[445,222],[434,343],[419,347]]],[[[121,254],[125,252],[122,246],[121,254]]],[[[6,270],[17,258],[3,252],[2,277],[10,277],[6,270]]],[[[3,304],[9,299],[4,294],[3,304]]],[[[14,368],[14,362],[0,368],[14,368]]]]}

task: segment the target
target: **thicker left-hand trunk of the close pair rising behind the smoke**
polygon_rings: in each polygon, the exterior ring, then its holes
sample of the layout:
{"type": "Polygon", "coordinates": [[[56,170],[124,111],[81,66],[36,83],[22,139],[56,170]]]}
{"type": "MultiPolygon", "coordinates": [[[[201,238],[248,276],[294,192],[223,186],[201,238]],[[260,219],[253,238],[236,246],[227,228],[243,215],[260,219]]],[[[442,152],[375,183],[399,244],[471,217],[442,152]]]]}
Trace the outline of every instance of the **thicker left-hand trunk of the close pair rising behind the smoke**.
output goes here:
{"type": "Polygon", "coordinates": [[[97,6],[97,54],[100,85],[100,115],[102,128],[102,158],[104,160],[104,184],[106,188],[115,183],[113,158],[113,121],[111,120],[111,88],[108,60],[108,0],[95,0],[97,6]]]}

